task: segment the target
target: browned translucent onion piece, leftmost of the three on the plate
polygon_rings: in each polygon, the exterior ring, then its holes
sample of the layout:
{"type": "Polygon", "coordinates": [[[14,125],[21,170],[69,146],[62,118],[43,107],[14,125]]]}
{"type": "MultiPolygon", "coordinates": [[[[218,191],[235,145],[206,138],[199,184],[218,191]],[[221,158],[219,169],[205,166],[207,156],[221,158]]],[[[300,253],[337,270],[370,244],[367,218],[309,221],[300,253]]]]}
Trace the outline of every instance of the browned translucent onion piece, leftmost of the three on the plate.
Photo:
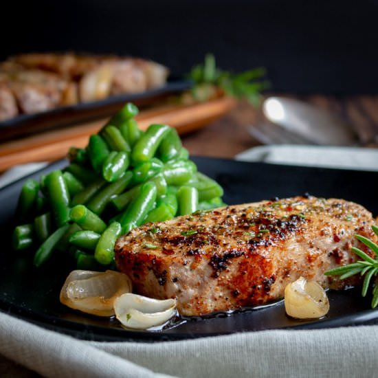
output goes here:
{"type": "Polygon", "coordinates": [[[118,271],[71,271],[60,291],[60,302],[99,316],[114,315],[115,298],[132,290],[131,280],[118,271]]]}

